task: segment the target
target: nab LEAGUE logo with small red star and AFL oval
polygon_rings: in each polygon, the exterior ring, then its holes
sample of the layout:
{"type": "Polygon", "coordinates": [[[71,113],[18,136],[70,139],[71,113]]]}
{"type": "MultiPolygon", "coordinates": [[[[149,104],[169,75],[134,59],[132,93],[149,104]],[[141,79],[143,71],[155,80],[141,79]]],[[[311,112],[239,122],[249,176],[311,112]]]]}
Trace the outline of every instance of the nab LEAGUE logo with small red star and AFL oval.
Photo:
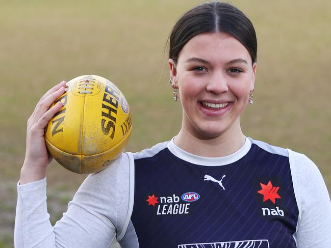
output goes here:
{"type": "Polygon", "coordinates": [[[188,214],[190,203],[196,202],[200,199],[200,195],[196,192],[186,192],[180,198],[179,196],[172,195],[169,197],[156,197],[154,194],[152,196],[148,196],[146,202],[148,202],[148,206],[152,205],[155,207],[157,204],[156,215],[166,215],[166,214],[188,214]],[[184,202],[180,202],[181,199],[184,202]]]}

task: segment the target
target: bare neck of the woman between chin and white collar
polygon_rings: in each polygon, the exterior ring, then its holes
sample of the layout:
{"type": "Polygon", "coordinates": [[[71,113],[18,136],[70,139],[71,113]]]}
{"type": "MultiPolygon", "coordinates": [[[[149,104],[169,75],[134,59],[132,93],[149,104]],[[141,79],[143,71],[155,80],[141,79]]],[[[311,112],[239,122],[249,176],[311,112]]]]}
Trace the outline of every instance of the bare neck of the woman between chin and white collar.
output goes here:
{"type": "Polygon", "coordinates": [[[182,127],[174,139],[174,143],[182,150],[203,157],[223,157],[238,151],[245,143],[245,135],[240,124],[217,137],[196,135],[182,127]]]}

